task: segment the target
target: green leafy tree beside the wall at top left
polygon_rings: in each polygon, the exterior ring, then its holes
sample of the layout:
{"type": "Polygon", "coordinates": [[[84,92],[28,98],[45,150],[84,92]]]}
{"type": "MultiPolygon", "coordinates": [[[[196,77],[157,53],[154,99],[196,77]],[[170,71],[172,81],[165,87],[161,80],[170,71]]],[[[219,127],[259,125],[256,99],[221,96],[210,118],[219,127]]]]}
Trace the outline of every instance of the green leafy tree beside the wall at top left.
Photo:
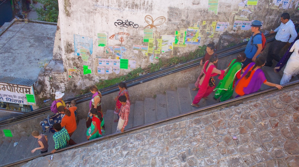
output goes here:
{"type": "Polygon", "coordinates": [[[42,4],[40,8],[34,7],[37,13],[37,20],[44,22],[55,22],[58,20],[58,0],[36,0],[42,4]]]}

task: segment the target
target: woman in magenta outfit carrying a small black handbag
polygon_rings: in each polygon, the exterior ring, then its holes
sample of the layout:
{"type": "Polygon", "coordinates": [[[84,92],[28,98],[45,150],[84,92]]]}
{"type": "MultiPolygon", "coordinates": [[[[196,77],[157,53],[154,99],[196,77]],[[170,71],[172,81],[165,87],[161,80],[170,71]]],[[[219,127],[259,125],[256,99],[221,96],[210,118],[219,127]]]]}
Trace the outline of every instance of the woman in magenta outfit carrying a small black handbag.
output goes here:
{"type": "Polygon", "coordinates": [[[199,103],[199,101],[202,98],[207,97],[208,95],[210,95],[210,93],[213,92],[213,89],[215,88],[215,84],[213,86],[209,85],[210,78],[220,74],[218,79],[223,79],[224,73],[227,69],[225,69],[225,70],[216,69],[215,64],[217,62],[218,62],[218,57],[216,55],[214,55],[213,57],[210,58],[210,60],[205,62],[204,66],[203,66],[204,72],[199,77],[200,78],[200,81],[198,84],[199,90],[198,90],[197,95],[194,97],[194,100],[191,103],[191,106],[200,107],[200,105],[198,105],[197,103],[199,103]]]}

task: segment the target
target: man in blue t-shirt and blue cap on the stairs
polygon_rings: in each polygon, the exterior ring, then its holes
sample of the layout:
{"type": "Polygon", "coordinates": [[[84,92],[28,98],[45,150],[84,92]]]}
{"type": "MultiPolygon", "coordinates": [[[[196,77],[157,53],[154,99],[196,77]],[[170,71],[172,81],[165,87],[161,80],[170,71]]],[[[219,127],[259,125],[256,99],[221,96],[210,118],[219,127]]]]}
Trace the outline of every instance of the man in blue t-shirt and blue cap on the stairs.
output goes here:
{"type": "Polygon", "coordinates": [[[262,35],[256,35],[260,33],[261,27],[262,23],[259,20],[254,20],[251,24],[251,32],[253,32],[253,34],[245,48],[244,53],[246,54],[246,60],[243,62],[243,68],[245,68],[249,63],[255,62],[255,59],[259,57],[260,52],[263,49],[262,35]],[[254,37],[254,35],[256,36],[254,37]]]}

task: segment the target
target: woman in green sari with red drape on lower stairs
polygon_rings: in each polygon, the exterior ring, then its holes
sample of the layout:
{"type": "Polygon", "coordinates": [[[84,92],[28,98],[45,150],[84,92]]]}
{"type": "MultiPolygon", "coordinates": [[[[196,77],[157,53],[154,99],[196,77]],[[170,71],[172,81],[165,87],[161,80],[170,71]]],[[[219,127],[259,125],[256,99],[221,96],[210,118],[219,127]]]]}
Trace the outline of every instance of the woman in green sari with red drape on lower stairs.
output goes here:
{"type": "Polygon", "coordinates": [[[104,125],[104,119],[102,113],[97,112],[96,108],[92,108],[90,110],[90,117],[92,117],[92,122],[90,127],[86,132],[86,136],[88,140],[96,139],[102,137],[102,127],[104,125]]]}

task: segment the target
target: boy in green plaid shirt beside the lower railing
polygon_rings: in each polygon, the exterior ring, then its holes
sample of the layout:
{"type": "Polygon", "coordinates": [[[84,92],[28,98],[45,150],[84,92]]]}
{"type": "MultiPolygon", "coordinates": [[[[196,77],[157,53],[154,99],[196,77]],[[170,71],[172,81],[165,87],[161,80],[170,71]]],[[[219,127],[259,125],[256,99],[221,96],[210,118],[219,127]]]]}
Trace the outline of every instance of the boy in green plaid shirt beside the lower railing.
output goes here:
{"type": "Polygon", "coordinates": [[[52,154],[54,154],[55,151],[57,151],[60,148],[65,148],[68,141],[70,140],[70,136],[68,135],[68,131],[65,128],[61,128],[60,123],[55,123],[53,125],[53,128],[55,130],[55,133],[53,135],[53,140],[55,142],[54,150],[51,151],[52,154]]]}

